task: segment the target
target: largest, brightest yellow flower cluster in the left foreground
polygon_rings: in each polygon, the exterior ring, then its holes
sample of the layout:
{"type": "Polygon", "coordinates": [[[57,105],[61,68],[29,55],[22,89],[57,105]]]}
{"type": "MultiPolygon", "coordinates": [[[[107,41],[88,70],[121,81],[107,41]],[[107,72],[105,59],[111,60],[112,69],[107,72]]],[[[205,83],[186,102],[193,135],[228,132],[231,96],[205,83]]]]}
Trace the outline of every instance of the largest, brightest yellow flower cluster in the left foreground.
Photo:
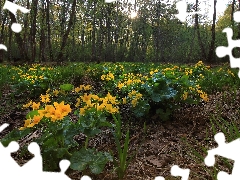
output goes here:
{"type": "MultiPolygon", "coordinates": [[[[28,103],[27,105],[29,105],[28,103]]],[[[39,109],[40,102],[39,103],[31,103],[33,110],[38,110],[38,115],[34,115],[33,118],[29,118],[25,120],[24,127],[21,127],[20,130],[23,130],[25,128],[30,128],[38,124],[44,117],[50,118],[52,122],[55,122],[57,120],[62,120],[65,116],[67,116],[71,112],[71,108],[69,104],[64,104],[64,101],[62,101],[60,104],[57,102],[54,102],[53,105],[46,105],[45,109],[39,109]]]]}

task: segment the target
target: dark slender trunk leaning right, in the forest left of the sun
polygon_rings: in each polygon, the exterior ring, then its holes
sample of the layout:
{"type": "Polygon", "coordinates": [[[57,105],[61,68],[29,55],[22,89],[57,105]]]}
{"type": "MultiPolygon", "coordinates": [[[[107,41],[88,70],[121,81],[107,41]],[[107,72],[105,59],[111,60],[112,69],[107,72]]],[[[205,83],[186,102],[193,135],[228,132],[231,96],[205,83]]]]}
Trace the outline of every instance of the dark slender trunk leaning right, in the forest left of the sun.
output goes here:
{"type": "Polygon", "coordinates": [[[68,35],[70,33],[70,30],[72,29],[72,26],[73,26],[73,21],[74,21],[74,16],[76,14],[76,3],[77,3],[77,0],[73,0],[73,3],[72,3],[72,8],[71,8],[71,14],[70,14],[70,19],[69,19],[69,22],[68,22],[68,25],[67,25],[67,30],[65,32],[65,34],[63,35],[63,39],[62,39],[62,43],[61,43],[61,49],[60,49],[60,52],[57,56],[57,62],[61,62],[63,60],[63,50],[67,44],[67,40],[68,40],[68,35]]]}

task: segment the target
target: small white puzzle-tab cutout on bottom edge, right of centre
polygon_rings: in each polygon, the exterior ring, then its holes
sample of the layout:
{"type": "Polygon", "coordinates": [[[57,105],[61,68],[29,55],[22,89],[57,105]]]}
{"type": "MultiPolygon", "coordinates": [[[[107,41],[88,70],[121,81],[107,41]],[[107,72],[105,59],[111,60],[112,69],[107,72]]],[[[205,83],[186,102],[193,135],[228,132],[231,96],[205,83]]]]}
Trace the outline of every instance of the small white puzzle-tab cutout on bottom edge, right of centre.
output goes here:
{"type": "MultiPolygon", "coordinates": [[[[190,169],[182,169],[177,165],[171,167],[171,175],[172,176],[180,176],[182,180],[188,180],[190,174],[190,169]]],[[[157,176],[154,180],[165,180],[162,176],[157,176]]]]}

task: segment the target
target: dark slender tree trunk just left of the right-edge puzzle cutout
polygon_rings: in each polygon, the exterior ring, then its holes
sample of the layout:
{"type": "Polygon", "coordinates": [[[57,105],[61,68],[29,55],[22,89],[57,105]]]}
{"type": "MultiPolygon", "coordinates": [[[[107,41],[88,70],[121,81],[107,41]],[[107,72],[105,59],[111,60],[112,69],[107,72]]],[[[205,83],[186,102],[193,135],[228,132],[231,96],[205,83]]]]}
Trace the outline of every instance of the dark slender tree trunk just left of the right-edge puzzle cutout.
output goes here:
{"type": "MultiPolygon", "coordinates": [[[[212,40],[209,48],[209,53],[208,53],[208,62],[212,62],[213,54],[215,52],[215,24],[216,24],[216,5],[217,5],[217,0],[214,0],[214,11],[213,11],[213,23],[212,23],[212,40]]],[[[215,57],[215,56],[214,56],[215,57]]]]}

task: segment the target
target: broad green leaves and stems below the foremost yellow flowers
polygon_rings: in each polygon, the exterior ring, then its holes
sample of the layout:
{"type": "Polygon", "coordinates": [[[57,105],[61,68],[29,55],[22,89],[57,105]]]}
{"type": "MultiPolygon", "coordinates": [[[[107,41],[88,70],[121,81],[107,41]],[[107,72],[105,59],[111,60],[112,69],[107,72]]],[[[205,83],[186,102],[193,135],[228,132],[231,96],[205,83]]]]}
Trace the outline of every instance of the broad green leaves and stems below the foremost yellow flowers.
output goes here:
{"type": "MultiPolygon", "coordinates": [[[[86,136],[93,137],[96,135],[96,130],[97,133],[100,132],[100,129],[95,128],[95,130],[92,130],[85,127],[85,125],[81,121],[79,123],[71,122],[68,116],[59,122],[51,122],[44,118],[37,127],[13,130],[1,139],[1,143],[7,146],[9,142],[18,141],[30,132],[39,129],[41,135],[35,138],[34,141],[41,147],[45,171],[57,170],[59,168],[58,162],[61,159],[69,159],[73,170],[83,171],[89,167],[92,173],[99,174],[103,171],[106,163],[112,161],[112,157],[107,152],[86,149],[86,146],[79,150],[79,144],[74,140],[75,135],[86,133],[86,136]]],[[[94,127],[94,125],[91,127],[94,127]]],[[[21,155],[23,156],[26,152],[25,148],[21,155]]]]}

